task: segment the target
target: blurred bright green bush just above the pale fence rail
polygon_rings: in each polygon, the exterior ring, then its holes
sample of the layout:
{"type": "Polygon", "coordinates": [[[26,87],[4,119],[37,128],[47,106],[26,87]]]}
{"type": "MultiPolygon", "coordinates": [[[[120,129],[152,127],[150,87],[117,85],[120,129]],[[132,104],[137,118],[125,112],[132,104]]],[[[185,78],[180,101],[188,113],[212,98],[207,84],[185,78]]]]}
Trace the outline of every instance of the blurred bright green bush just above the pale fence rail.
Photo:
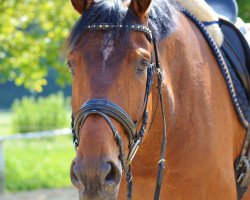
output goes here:
{"type": "Polygon", "coordinates": [[[13,132],[53,130],[70,127],[69,98],[62,93],[48,97],[24,97],[13,106],[11,127],[13,132]]]}

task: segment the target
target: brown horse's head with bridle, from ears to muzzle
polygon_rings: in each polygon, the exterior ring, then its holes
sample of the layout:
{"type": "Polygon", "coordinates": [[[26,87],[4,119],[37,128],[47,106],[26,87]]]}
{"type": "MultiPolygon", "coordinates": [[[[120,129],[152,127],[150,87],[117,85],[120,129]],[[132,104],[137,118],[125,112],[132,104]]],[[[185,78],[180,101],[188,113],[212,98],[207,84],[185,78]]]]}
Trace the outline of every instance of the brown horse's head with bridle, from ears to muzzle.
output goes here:
{"type": "Polygon", "coordinates": [[[72,0],[81,18],[67,41],[77,147],[70,175],[80,199],[116,199],[122,171],[132,178],[135,133],[151,112],[150,3],[72,0]]]}

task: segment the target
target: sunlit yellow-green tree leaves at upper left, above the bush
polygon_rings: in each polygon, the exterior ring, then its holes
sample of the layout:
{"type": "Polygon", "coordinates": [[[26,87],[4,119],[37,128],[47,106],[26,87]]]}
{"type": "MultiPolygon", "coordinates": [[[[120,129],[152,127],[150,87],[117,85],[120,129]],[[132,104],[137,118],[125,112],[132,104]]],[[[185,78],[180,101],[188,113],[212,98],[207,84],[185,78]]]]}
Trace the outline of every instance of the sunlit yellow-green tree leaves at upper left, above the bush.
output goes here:
{"type": "Polygon", "coordinates": [[[60,52],[78,17],[70,1],[1,0],[0,12],[0,83],[41,92],[51,67],[69,83],[60,52]]]}

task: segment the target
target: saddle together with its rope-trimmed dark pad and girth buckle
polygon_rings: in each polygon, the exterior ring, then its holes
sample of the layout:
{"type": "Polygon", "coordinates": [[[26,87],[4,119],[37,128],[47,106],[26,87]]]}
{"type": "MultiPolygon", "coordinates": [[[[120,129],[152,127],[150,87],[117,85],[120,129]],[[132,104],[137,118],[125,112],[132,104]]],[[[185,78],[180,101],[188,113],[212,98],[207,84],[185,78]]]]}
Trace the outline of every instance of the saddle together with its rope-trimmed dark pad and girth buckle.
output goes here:
{"type": "MultiPolygon", "coordinates": [[[[202,0],[197,1],[198,3],[203,2],[202,0]]],[[[205,0],[205,2],[220,15],[219,19],[217,17],[214,20],[213,12],[212,17],[203,22],[203,15],[202,17],[195,16],[197,13],[191,12],[190,14],[189,11],[184,13],[197,25],[213,51],[228,87],[235,111],[242,125],[247,129],[241,155],[235,161],[237,195],[238,200],[241,200],[248,186],[250,186],[250,48],[245,36],[234,25],[238,15],[236,1],[205,0]],[[223,33],[222,44],[216,42],[212,38],[211,31],[209,32],[209,28],[211,29],[209,26],[213,25],[219,25],[219,32],[222,31],[223,33]]],[[[203,9],[202,6],[199,6],[199,8],[203,9]]],[[[190,8],[186,9],[190,10],[190,8]]],[[[204,6],[204,12],[206,9],[206,6],[204,6]]]]}

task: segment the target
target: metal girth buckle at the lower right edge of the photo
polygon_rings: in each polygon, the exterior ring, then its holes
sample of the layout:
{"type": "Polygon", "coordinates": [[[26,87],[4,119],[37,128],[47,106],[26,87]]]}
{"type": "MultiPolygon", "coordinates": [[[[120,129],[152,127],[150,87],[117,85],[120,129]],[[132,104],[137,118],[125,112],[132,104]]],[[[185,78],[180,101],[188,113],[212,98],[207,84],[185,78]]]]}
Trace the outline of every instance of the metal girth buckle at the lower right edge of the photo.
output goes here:
{"type": "Polygon", "coordinates": [[[250,161],[246,157],[242,158],[237,169],[240,171],[237,183],[241,187],[250,185],[250,161]]]}

